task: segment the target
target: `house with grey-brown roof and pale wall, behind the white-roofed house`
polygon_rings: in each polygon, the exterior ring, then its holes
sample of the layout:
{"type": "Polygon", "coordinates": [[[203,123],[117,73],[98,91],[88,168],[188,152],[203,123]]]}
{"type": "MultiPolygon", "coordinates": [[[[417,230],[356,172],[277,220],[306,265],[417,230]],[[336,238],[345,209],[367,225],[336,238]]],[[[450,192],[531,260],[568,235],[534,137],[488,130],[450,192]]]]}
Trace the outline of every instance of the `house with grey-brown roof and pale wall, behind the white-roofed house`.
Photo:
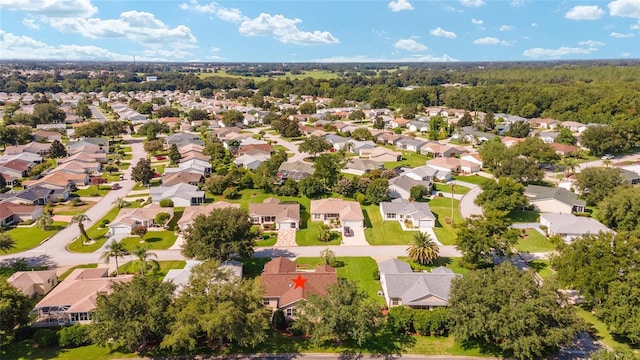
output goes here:
{"type": "Polygon", "coordinates": [[[538,211],[545,213],[584,212],[587,206],[584,200],[578,199],[578,195],[563,188],[528,185],[524,190],[524,195],[529,199],[531,205],[535,206],[538,211]]]}

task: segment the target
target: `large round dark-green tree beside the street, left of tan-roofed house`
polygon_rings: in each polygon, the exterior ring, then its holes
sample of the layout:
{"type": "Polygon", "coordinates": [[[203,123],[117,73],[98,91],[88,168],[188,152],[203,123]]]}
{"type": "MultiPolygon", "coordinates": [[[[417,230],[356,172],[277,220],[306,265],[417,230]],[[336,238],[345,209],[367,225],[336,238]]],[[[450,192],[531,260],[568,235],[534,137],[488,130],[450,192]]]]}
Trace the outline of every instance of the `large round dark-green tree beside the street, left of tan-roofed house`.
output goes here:
{"type": "Polygon", "coordinates": [[[245,210],[215,209],[198,216],[185,231],[182,254],[198,260],[228,260],[231,255],[253,254],[255,234],[245,210]]]}

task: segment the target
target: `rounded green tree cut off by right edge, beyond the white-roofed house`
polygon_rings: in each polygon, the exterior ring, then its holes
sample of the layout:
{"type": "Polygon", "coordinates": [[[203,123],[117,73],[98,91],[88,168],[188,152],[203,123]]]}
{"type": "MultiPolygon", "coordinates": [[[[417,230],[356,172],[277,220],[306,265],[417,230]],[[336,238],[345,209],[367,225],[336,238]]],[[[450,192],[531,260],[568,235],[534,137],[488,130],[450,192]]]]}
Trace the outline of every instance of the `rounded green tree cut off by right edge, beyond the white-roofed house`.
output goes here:
{"type": "Polygon", "coordinates": [[[598,220],[617,231],[640,230],[640,189],[618,186],[598,203],[598,220]]]}

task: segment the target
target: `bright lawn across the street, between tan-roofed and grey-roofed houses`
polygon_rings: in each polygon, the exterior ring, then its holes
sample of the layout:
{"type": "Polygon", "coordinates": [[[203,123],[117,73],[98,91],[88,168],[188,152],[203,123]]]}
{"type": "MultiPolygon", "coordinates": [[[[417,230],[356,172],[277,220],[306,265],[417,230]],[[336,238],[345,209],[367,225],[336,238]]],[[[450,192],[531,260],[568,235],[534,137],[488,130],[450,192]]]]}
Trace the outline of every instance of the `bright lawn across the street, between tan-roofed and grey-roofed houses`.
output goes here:
{"type": "Polygon", "coordinates": [[[371,245],[407,245],[413,239],[413,231],[403,231],[397,221],[382,221],[378,205],[362,206],[364,235],[371,245]]]}

